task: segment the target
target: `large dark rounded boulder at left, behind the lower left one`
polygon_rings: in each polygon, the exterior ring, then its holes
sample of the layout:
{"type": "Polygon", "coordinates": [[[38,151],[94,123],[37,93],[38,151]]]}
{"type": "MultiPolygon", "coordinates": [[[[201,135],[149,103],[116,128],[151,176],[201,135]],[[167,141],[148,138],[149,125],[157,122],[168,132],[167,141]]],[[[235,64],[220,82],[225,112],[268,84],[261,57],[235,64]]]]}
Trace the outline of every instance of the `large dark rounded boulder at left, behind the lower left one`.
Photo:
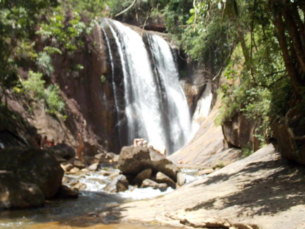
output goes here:
{"type": "Polygon", "coordinates": [[[20,179],[36,184],[45,198],[57,193],[64,173],[51,154],[37,147],[2,149],[0,170],[11,171],[20,179]]]}

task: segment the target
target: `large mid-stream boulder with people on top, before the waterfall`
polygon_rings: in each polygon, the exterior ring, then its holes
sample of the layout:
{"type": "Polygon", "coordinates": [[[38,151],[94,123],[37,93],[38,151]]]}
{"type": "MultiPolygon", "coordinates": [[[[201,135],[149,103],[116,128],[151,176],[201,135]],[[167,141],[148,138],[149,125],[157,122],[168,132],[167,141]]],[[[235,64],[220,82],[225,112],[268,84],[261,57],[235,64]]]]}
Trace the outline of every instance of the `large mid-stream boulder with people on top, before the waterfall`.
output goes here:
{"type": "Polygon", "coordinates": [[[152,169],[152,173],[164,173],[175,182],[177,181],[177,173],[179,168],[171,161],[153,149],[142,146],[124,146],[121,150],[119,161],[119,169],[124,174],[137,175],[144,169],[152,169]]]}

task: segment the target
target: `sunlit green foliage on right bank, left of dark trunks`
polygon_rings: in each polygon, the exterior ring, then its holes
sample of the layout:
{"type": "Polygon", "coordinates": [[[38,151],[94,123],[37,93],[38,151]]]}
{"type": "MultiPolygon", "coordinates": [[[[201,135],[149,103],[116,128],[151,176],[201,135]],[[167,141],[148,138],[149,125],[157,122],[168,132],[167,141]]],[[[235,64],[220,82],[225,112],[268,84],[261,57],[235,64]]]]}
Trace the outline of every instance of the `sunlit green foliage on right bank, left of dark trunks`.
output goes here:
{"type": "MultiPolygon", "coordinates": [[[[284,116],[289,109],[292,84],[272,16],[266,15],[265,5],[261,4],[263,1],[236,2],[242,9],[240,12],[246,12],[238,19],[246,27],[241,28],[236,17],[231,19],[235,29],[241,29],[240,44],[224,70],[226,83],[221,85],[224,105],[217,122],[222,123],[236,113],[243,112],[247,118],[260,123],[258,131],[263,135],[256,137],[264,142],[272,137],[273,120],[284,116]]],[[[243,151],[246,152],[244,154],[249,152],[247,149],[243,151]]]]}

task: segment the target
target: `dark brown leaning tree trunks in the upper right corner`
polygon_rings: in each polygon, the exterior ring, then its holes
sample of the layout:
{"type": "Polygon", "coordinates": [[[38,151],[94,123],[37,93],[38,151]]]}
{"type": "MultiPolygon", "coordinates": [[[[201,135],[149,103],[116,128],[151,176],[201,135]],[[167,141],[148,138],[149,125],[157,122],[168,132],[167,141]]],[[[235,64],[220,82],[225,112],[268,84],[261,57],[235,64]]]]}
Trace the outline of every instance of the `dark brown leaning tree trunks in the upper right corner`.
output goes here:
{"type": "Polygon", "coordinates": [[[272,20],[278,31],[285,67],[296,93],[304,96],[305,86],[305,24],[304,1],[268,1],[272,20]]]}

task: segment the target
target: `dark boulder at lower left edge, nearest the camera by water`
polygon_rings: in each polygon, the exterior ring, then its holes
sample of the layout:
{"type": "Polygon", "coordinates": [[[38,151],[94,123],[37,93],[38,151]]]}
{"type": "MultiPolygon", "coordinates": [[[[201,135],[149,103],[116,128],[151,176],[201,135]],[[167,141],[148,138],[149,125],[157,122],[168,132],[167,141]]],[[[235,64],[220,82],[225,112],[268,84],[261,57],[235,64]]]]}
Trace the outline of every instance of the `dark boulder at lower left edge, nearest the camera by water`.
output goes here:
{"type": "Polygon", "coordinates": [[[0,209],[41,207],[45,197],[36,184],[20,179],[10,171],[0,170],[0,209]]]}

